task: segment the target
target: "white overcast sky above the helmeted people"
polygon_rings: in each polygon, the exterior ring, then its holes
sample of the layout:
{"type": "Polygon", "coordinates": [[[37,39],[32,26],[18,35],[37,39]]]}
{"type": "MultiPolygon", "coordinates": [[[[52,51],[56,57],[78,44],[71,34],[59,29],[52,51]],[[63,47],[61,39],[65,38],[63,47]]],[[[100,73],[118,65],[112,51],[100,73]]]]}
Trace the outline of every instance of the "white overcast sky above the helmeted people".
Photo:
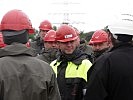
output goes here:
{"type": "Polygon", "coordinates": [[[121,13],[133,14],[133,0],[0,0],[0,19],[12,9],[23,10],[36,29],[47,19],[57,26],[68,21],[87,32],[103,28],[121,13]]]}

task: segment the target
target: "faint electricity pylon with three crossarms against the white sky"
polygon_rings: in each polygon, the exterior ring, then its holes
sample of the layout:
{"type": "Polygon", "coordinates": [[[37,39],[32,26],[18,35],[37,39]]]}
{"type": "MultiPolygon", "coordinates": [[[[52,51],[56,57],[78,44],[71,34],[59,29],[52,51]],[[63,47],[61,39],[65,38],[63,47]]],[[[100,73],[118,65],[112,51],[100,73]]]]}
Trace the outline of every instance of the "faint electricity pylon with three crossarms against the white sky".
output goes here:
{"type": "Polygon", "coordinates": [[[77,3],[77,2],[74,3],[74,2],[69,2],[69,0],[64,0],[61,2],[53,2],[52,4],[56,5],[58,7],[63,6],[62,11],[49,13],[49,16],[62,17],[62,19],[60,19],[60,21],[55,20],[54,22],[52,22],[52,24],[55,24],[57,26],[60,24],[63,24],[63,23],[74,25],[74,26],[77,26],[78,24],[82,24],[82,25],[85,24],[85,22],[83,22],[83,21],[71,19],[71,17],[74,15],[82,17],[85,14],[85,13],[80,13],[80,12],[75,12],[75,11],[72,12],[69,9],[69,6],[79,5],[80,3],[77,3]]]}

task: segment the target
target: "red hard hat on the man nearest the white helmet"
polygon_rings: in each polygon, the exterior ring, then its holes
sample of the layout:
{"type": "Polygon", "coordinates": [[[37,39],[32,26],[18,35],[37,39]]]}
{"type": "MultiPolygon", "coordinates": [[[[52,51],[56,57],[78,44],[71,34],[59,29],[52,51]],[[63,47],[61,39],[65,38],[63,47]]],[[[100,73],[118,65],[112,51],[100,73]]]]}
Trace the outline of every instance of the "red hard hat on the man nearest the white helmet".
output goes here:
{"type": "Polygon", "coordinates": [[[89,45],[98,44],[107,41],[109,41],[108,33],[106,33],[103,30],[97,30],[92,35],[92,38],[89,41],[89,45]]]}

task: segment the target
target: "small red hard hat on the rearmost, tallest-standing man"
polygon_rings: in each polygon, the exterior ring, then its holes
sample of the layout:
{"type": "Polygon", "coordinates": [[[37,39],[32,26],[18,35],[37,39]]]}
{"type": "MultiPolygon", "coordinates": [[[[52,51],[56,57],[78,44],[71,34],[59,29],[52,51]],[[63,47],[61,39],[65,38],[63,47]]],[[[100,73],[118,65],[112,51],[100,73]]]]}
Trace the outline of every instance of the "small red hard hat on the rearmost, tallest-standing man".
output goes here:
{"type": "Polygon", "coordinates": [[[39,29],[49,31],[52,29],[52,24],[48,20],[44,20],[43,22],[40,23],[39,29]]]}

